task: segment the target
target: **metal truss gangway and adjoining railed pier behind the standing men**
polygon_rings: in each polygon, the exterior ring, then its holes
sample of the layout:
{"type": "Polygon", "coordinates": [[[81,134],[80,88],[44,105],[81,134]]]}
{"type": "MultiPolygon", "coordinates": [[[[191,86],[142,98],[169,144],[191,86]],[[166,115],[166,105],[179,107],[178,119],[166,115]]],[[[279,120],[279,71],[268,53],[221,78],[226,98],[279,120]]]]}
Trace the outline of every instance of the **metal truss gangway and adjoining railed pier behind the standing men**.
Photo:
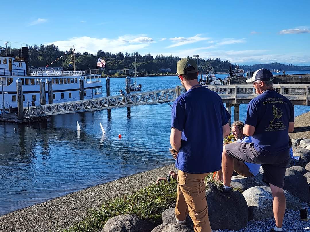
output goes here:
{"type": "MultiPolygon", "coordinates": [[[[247,104],[257,96],[255,88],[250,84],[241,85],[209,85],[204,86],[215,91],[228,104],[247,104]]],[[[294,105],[310,103],[310,85],[273,85],[273,88],[294,105]]],[[[68,101],[47,105],[24,107],[25,117],[40,117],[57,114],[69,114],[85,111],[131,107],[136,105],[161,104],[174,101],[176,97],[186,92],[181,86],[176,88],[137,92],[111,97],[92,98],[78,101],[68,101]]],[[[206,99],[212,101],[212,99],[206,99]]]]}

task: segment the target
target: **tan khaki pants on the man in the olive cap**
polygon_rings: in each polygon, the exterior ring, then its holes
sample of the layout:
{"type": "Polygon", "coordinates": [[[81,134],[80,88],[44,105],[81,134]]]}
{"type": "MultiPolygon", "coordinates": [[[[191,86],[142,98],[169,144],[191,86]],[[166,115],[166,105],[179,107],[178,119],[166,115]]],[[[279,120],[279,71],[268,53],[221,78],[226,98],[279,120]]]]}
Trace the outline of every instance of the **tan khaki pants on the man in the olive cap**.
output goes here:
{"type": "Polygon", "coordinates": [[[184,221],[189,213],[195,232],[211,232],[204,182],[208,174],[190,174],[178,170],[175,217],[184,221]]]}

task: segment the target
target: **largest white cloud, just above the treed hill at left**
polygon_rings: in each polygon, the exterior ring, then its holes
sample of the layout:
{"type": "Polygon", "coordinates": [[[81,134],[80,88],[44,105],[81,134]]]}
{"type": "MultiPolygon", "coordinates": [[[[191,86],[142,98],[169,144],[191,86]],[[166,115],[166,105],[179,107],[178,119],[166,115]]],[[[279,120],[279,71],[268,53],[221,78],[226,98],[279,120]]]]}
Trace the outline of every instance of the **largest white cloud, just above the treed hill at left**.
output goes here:
{"type": "Polygon", "coordinates": [[[55,44],[62,49],[68,49],[75,45],[77,52],[88,52],[96,54],[98,50],[111,53],[116,52],[136,52],[149,46],[153,39],[145,35],[124,35],[117,38],[92,38],[88,36],[72,37],[64,41],[53,41],[45,44],[55,44]]]}

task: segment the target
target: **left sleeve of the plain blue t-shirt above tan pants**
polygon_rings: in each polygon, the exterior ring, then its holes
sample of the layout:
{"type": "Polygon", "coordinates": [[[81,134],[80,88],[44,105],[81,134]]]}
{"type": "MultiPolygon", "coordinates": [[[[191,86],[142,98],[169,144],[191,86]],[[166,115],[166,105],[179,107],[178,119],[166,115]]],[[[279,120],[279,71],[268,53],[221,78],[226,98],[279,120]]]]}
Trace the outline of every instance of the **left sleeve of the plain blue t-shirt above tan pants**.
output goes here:
{"type": "Polygon", "coordinates": [[[185,107],[181,101],[175,100],[171,109],[171,128],[183,131],[185,124],[185,107]]]}

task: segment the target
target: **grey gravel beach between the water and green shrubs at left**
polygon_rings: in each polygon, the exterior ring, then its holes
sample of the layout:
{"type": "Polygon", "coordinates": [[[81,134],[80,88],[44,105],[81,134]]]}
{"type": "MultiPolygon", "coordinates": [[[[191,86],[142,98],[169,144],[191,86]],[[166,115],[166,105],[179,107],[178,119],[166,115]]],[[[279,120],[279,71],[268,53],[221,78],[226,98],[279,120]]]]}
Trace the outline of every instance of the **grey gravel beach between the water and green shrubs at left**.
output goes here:
{"type": "Polygon", "coordinates": [[[174,164],[117,179],[112,182],[86,188],[41,204],[23,208],[0,217],[0,232],[57,231],[67,229],[82,221],[88,210],[98,209],[105,200],[155,183],[166,177],[174,164]]]}

